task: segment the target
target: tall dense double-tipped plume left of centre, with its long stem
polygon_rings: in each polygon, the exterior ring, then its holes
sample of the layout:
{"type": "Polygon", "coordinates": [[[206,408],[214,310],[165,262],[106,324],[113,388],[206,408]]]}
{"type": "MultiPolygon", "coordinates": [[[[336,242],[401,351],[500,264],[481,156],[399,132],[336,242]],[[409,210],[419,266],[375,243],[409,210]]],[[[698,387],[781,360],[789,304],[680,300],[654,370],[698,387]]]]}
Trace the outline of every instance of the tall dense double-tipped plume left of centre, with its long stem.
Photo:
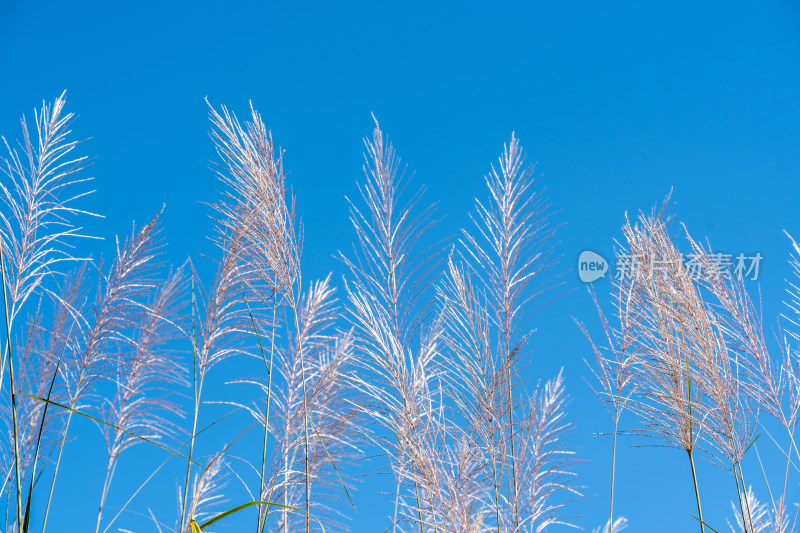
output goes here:
{"type": "MultiPolygon", "coordinates": [[[[312,387],[313,376],[317,369],[312,354],[317,347],[311,338],[308,339],[311,344],[305,345],[307,333],[304,328],[307,324],[304,324],[306,319],[303,315],[306,312],[304,309],[306,303],[303,301],[300,269],[302,227],[295,222],[294,200],[286,192],[282,153],[275,150],[271,134],[252,105],[250,111],[251,120],[242,124],[225,107],[222,107],[221,112],[211,108],[211,121],[215,127],[212,138],[222,160],[218,174],[229,189],[225,199],[216,203],[214,207],[219,216],[220,232],[241,239],[241,246],[236,252],[237,260],[243,265],[240,272],[243,286],[260,299],[261,307],[266,309],[271,307],[273,316],[278,310],[289,311],[287,323],[294,331],[291,352],[295,354],[297,362],[294,368],[297,375],[293,375],[292,379],[299,378],[296,383],[302,393],[299,396],[302,406],[298,411],[302,424],[295,420],[294,427],[302,430],[303,508],[305,531],[308,533],[311,528],[311,486],[314,481],[314,470],[318,466],[317,458],[326,457],[334,469],[336,466],[326,445],[325,435],[317,427],[317,423],[321,421],[315,419],[315,412],[309,405],[315,393],[312,387]],[[310,436],[312,429],[316,439],[310,436]],[[325,454],[319,455],[319,449],[324,450],[325,454]]],[[[318,290],[328,291],[327,282],[312,289],[309,298],[318,290]]],[[[251,321],[255,324],[252,309],[249,304],[247,307],[251,321]]],[[[257,314],[261,313],[257,311],[257,314]]],[[[272,361],[275,353],[273,343],[270,350],[270,361],[272,361]]],[[[338,366],[329,369],[341,371],[338,366]]],[[[267,371],[271,376],[272,368],[268,367],[267,371]]],[[[268,382],[265,391],[268,399],[272,395],[269,383],[271,382],[268,382]]],[[[265,410],[263,416],[265,449],[269,432],[268,418],[265,410]]],[[[334,437],[338,438],[340,435],[341,429],[334,437]]],[[[266,453],[263,461],[266,462],[266,453]]],[[[265,465],[262,463],[262,470],[264,469],[265,465]]],[[[265,489],[264,481],[262,476],[259,490],[262,495],[265,489]]],[[[263,512],[259,512],[262,531],[266,526],[268,510],[263,509],[263,512]]]]}

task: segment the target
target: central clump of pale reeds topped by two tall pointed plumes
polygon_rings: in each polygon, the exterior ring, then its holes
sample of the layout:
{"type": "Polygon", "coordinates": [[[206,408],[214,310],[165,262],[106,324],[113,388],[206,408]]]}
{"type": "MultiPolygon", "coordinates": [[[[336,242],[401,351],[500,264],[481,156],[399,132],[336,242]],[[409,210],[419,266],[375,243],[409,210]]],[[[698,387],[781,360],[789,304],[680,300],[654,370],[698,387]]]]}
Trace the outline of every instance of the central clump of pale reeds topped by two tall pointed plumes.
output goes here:
{"type": "MultiPolygon", "coordinates": [[[[426,241],[432,208],[405,202],[405,177],[377,127],[366,141],[344,256],[372,440],[395,477],[393,529],[539,531],[563,520],[572,452],[563,378],[522,393],[529,319],[553,284],[553,227],[516,138],[486,178],[475,230],[445,258],[426,241]],[[418,258],[422,259],[418,259],[418,258]]],[[[569,498],[567,498],[569,499],[569,498]]]]}

